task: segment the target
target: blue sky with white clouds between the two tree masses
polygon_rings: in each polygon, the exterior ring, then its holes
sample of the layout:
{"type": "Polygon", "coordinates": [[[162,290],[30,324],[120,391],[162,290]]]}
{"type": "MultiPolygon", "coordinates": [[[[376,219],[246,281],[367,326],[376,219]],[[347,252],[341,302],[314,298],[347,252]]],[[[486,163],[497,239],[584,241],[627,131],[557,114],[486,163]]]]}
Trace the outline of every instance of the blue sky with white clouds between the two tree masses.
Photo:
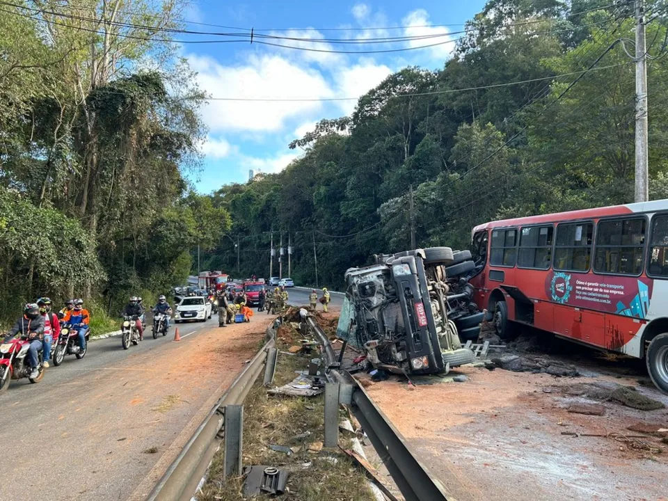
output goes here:
{"type": "MultiPolygon", "coordinates": [[[[380,38],[443,35],[392,45],[331,45],[326,42],[283,42],[319,49],[395,49],[445,42],[459,35],[459,26],[484,6],[484,0],[268,1],[228,3],[199,0],[185,13],[193,22],[253,27],[257,33],[297,38],[380,38]],[[436,27],[432,24],[452,24],[436,27]],[[407,26],[397,28],[397,26],[407,26]],[[354,28],[350,31],[326,29],[354,28]],[[315,29],[315,30],[314,30],[315,29]],[[261,31],[271,30],[271,31],[261,31]]],[[[198,31],[232,31],[189,24],[198,31]]],[[[207,36],[206,38],[213,38],[207,36]]],[[[359,97],[391,72],[406,65],[443,67],[453,44],[390,54],[327,54],[223,43],[183,45],[183,54],[198,73],[198,84],[212,97],[265,99],[321,99],[359,97]]],[[[209,128],[202,145],[204,168],[190,175],[196,189],[209,193],[230,182],[246,182],[248,170],[274,173],[303,154],[287,144],[301,137],[322,118],[349,115],[354,100],[337,102],[228,102],[210,101],[202,109],[209,128]]]]}

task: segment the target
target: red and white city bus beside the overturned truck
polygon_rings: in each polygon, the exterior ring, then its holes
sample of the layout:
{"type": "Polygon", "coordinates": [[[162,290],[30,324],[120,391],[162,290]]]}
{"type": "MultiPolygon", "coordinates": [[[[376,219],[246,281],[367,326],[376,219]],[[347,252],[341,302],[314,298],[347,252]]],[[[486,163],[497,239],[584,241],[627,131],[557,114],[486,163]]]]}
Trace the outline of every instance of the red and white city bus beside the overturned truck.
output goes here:
{"type": "Polygon", "coordinates": [[[479,308],[645,358],[668,393],[668,200],[492,221],[473,228],[479,308]]]}

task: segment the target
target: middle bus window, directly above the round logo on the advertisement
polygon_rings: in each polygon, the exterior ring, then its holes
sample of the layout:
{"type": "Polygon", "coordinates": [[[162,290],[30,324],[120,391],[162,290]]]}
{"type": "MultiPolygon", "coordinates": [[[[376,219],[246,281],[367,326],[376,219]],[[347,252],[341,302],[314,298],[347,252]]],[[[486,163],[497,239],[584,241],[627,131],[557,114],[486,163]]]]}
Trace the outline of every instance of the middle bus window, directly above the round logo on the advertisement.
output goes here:
{"type": "Polygon", "coordinates": [[[591,260],[592,223],[568,223],[557,226],[555,242],[556,270],[587,271],[591,260]]]}

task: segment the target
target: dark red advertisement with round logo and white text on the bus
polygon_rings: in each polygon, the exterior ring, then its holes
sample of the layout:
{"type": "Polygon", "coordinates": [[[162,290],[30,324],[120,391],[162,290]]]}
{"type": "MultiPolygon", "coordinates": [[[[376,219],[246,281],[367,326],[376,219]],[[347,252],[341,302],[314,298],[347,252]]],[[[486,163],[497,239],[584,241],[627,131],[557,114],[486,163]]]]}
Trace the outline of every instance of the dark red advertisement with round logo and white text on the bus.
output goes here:
{"type": "Polygon", "coordinates": [[[653,281],[644,277],[551,271],[546,277],[545,291],[555,303],[644,319],[652,285],[653,281]]]}

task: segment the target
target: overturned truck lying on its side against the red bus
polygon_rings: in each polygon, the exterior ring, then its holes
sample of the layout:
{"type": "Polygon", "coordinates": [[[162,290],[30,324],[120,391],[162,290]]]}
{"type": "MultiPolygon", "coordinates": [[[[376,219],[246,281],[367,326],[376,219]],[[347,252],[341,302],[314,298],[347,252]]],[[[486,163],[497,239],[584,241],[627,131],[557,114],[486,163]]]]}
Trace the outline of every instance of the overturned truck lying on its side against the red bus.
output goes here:
{"type": "Polygon", "coordinates": [[[484,312],[468,283],[476,271],[470,252],[432,247],[374,261],[346,271],[340,337],[388,372],[431,374],[471,363],[475,355],[462,340],[477,340],[484,312]]]}

